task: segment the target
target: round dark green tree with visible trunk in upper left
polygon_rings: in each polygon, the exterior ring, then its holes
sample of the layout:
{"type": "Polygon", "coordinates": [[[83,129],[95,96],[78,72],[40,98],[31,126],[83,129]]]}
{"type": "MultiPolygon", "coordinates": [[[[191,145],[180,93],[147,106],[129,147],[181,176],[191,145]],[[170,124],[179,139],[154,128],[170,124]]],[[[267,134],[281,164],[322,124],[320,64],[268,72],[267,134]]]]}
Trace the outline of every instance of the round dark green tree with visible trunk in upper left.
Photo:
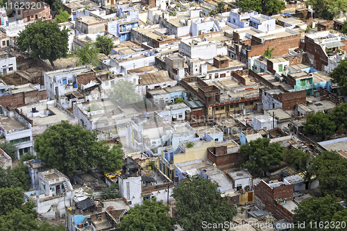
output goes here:
{"type": "Polygon", "coordinates": [[[54,68],[53,61],[67,55],[67,31],[60,30],[56,22],[36,20],[19,32],[17,44],[21,51],[29,51],[32,58],[49,60],[54,68]]]}

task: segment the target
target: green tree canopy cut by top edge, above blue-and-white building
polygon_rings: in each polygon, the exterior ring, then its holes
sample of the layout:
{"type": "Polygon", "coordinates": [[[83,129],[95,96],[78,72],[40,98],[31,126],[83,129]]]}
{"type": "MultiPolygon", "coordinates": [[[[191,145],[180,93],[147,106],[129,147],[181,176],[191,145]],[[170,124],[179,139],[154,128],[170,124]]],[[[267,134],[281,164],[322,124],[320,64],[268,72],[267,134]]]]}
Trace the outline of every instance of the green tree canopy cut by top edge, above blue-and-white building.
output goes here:
{"type": "Polygon", "coordinates": [[[280,0],[239,0],[237,6],[242,10],[255,10],[271,15],[285,9],[285,2],[280,0]]]}

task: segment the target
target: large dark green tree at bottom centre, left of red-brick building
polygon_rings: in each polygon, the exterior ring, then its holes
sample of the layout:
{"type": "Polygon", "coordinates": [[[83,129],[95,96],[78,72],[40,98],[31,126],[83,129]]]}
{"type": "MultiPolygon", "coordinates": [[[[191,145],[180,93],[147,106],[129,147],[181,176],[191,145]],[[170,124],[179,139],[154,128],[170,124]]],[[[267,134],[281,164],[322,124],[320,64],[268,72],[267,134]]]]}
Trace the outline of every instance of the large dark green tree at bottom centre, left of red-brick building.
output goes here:
{"type": "Polygon", "coordinates": [[[237,214],[235,207],[228,204],[228,197],[221,197],[217,183],[201,176],[188,177],[180,181],[173,190],[177,209],[176,222],[184,230],[205,230],[203,221],[224,223],[232,221],[232,217],[237,214]]]}

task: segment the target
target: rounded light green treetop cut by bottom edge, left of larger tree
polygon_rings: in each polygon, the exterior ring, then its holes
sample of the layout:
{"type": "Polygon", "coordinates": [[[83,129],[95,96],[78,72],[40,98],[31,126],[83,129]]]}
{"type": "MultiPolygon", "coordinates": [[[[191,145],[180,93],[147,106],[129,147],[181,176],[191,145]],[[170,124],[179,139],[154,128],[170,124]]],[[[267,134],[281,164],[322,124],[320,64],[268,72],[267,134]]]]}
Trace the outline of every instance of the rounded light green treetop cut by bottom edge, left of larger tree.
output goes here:
{"type": "Polygon", "coordinates": [[[130,208],[121,218],[120,227],[124,231],[169,231],[173,221],[167,215],[169,207],[155,198],[144,200],[142,205],[130,208]]]}

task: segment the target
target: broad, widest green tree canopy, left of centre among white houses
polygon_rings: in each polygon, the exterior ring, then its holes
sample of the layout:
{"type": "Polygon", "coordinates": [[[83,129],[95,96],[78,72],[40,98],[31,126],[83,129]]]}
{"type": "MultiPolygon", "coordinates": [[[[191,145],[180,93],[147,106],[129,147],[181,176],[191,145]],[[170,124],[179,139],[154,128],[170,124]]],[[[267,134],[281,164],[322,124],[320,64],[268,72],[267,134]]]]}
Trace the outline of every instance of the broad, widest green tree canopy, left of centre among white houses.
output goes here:
{"type": "Polygon", "coordinates": [[[119,160],[123,157],[122,152],[121,155],[115,152],[116,148],[110,150],[110,146],[96,141],[95,133],[67,121],[49,126],[36,137],[34,148],[46,167],[67,176],[74,175],[77,169],[87,171],[94,166],[102,171],[115,171],[121,167],[119,160]]]}

